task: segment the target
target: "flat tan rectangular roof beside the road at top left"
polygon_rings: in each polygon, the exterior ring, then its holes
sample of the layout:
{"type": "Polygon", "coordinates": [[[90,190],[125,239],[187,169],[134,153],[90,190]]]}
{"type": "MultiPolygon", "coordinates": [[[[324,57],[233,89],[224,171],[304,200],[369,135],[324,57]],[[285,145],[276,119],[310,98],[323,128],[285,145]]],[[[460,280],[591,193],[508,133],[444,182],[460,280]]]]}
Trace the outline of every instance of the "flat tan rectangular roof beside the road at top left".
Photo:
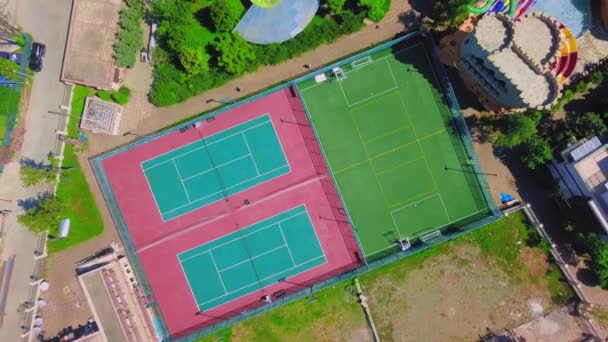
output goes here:
{"type": "Polygon", "coordinates": [[[61,80],[110,89],[121,0],[74,0],[61,80]]]}

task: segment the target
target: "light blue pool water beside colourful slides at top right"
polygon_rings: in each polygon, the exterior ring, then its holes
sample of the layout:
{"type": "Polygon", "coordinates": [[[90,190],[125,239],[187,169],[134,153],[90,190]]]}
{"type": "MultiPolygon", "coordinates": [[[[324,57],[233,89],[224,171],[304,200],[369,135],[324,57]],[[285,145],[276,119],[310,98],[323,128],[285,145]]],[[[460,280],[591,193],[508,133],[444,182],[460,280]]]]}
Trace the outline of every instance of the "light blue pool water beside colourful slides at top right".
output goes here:
{"type": "Polygon", "coordinates": [[[589,7],[589,0],[537,0],[532,11],[543,12],[555,17],[566,25],[576,38],[579,38],[591,25],[589,7]]]}

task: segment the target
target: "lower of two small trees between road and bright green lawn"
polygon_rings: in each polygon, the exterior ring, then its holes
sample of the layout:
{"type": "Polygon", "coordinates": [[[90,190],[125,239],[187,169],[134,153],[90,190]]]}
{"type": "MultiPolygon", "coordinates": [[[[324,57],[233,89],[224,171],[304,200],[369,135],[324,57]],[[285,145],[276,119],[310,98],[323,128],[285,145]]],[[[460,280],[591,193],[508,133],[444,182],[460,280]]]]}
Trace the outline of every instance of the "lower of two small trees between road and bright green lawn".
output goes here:
{"type": "Polygon", "coordinates": [[[34,233],[55,232],[64,218],[65,206],[55,197],[41,199],[38,204],[17,217],[20,224],[34,233]]]}

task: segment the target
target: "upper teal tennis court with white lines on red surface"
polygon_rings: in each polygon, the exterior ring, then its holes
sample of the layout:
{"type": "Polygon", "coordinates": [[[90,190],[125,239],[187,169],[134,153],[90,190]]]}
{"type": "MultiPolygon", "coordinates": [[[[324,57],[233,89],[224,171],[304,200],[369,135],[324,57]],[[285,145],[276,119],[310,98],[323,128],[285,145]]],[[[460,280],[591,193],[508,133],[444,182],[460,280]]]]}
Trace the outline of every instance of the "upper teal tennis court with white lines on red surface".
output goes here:
{"type": "Polygon", "coordinates": [[[141,164],[164,221],[290,171],[270,116],[259,116],[141,164]]]}

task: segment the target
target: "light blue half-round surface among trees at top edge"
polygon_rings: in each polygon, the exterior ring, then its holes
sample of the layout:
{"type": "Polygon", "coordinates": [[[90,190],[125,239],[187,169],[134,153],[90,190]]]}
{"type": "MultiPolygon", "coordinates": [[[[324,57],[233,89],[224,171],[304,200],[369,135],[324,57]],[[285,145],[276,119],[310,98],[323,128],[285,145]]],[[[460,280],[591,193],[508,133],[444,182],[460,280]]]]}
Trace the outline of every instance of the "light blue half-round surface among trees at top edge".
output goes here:
{"type": "Polygon", "coordinates": [[[284,0],[275,7],[252,5],[234,29],[255,44],[284,42],[302,32],[319,9],[319,0],[284,0]]]}

